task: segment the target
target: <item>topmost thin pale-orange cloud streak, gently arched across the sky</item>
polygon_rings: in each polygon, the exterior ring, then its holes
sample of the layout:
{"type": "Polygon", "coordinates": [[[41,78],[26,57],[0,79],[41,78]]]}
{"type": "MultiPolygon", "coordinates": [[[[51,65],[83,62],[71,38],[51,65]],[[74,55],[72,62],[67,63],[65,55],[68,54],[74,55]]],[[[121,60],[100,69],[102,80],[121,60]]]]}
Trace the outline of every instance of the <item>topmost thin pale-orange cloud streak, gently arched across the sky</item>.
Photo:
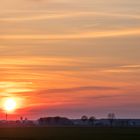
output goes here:
{"type": "Polygon", "coordinates": [[[84,11],[75,11],[75,12],[47,12],[47,11],[22,11],[15,12],[11,15],[11,17],[3,17],[0,18],[1,22],[22,22],[22,21],[34,21],[34,20],[50,20],[50,19],[68,19],[68,18],[77,18],[77,17],[116,17],[116,18],[128,18],[128,19],[140,19],[139,15],[131,15],[131,14],[122,14],[122,13],[103,13],[103,12],[84,12],[84,11]],[[20,16],[17,16],[17,14],[20,16]],[[22,14],[21,14],[22,13],[22,14]],[[27,13],[32,13],[32,15],[27,15],[27,13]],[[39,13],[39,14],[37,14],[39,13]],[[14,14],[16,14],[14,16],[14,14]]]}

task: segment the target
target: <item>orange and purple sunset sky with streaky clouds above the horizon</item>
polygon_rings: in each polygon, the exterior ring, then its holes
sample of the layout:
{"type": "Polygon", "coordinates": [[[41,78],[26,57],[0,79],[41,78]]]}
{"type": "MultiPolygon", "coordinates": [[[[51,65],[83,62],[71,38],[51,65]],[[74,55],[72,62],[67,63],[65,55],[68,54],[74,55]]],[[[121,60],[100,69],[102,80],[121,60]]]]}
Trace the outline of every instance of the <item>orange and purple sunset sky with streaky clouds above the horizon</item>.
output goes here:
{"type": "Polygon", "coordinates": [[[0,114],[140,118],[139,0],[1,0],[0,114]]]}

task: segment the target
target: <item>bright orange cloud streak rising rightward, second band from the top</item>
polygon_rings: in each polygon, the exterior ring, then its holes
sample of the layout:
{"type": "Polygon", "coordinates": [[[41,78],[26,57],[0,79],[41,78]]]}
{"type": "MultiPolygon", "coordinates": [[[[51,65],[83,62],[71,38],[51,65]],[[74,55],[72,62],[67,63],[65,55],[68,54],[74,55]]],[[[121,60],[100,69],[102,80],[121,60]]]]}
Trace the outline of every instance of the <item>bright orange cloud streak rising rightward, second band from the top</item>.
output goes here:
{"type": "Polygon", "coordinates": [[[140,35],[140,28],[118,29],[118,30],[104,30],[104,31],[86,31],[77,32],[73,34],[56,34],[56,35],[0,35],[0,39],[4,40],[74,40],[74,39],[94,39],[94,38],[108,38],[119,36],[140,35]]]}

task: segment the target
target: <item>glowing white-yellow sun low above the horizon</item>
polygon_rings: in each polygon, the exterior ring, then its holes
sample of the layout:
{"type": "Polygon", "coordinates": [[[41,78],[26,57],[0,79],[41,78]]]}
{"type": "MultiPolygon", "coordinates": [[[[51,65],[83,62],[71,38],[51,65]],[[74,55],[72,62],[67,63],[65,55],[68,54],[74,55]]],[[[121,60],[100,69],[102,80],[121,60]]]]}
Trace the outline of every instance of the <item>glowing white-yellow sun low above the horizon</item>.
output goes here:
{"type": "Polygon", "coordinates": [[[17,103],[13,98],[8,98],[4,101],[4,110],[7,112],[12,112],[16,109],[17,103]]]}

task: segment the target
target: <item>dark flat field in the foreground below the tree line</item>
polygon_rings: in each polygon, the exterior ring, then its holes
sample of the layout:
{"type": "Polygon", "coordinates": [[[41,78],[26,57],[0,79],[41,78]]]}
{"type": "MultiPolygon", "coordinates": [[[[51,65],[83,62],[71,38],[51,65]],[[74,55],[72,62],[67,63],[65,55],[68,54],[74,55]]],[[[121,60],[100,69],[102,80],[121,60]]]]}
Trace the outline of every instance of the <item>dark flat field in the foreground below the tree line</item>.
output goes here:
{"type": "Polygon", "coordinates": [[[140,140],[140,128],[0,128],[0,140],[140,140]]]}

